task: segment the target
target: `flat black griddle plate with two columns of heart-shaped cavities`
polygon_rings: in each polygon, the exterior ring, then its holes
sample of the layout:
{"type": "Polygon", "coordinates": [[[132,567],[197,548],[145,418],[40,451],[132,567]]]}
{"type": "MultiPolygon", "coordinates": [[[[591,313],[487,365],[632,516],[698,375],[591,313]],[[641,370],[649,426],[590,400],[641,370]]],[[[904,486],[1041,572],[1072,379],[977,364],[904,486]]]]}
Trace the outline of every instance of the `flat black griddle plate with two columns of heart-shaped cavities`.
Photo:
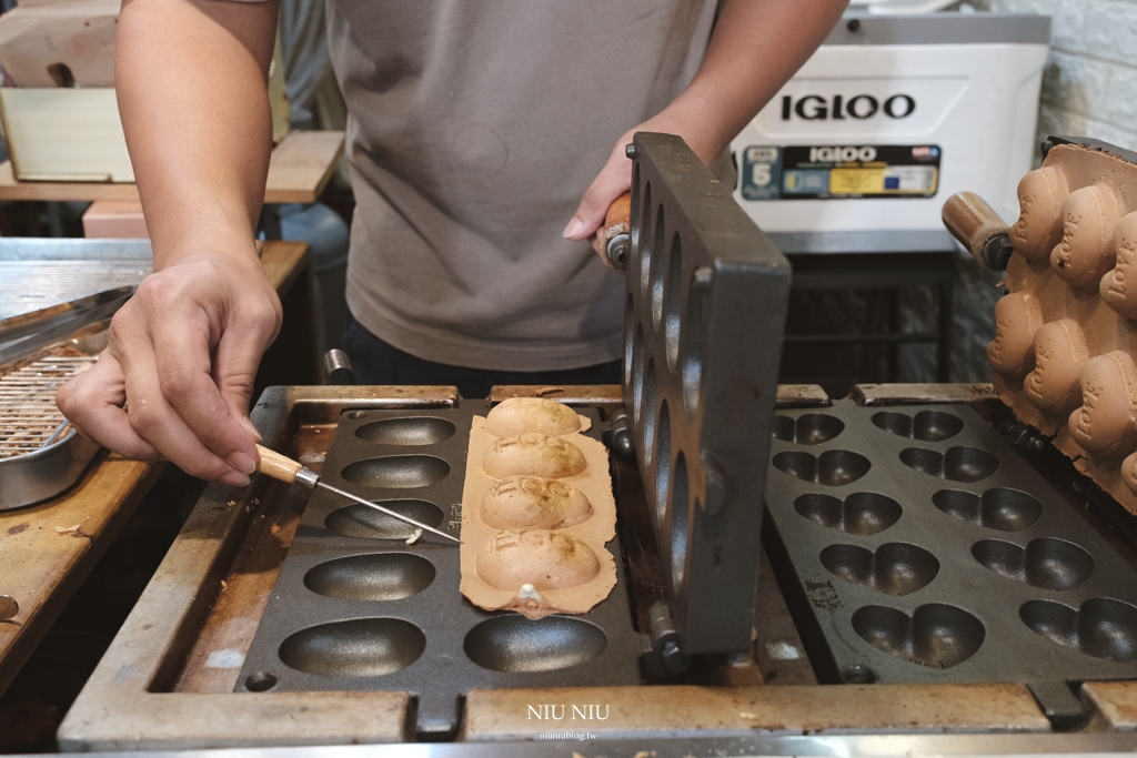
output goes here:
{"type": "Polygon", "coordinates": [[[971,408],[782,411],[772,453],[774,565],[822,681],[1137,676],[1137,572],[971,408]]]}

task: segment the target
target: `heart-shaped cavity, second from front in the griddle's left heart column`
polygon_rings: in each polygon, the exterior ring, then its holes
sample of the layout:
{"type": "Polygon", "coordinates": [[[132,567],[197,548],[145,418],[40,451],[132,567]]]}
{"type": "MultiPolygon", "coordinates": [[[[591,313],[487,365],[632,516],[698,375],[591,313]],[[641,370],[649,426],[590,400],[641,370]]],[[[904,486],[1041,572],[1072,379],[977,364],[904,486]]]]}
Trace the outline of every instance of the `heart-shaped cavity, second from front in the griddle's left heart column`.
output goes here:
{"type": "Polygon", "coordinates": [[[885,594],[912,594],[939,574],[939,561],[923,548],[888,542],[872,552],[856,544],[831,544],[821,551],[831,574],[885,594]]]}

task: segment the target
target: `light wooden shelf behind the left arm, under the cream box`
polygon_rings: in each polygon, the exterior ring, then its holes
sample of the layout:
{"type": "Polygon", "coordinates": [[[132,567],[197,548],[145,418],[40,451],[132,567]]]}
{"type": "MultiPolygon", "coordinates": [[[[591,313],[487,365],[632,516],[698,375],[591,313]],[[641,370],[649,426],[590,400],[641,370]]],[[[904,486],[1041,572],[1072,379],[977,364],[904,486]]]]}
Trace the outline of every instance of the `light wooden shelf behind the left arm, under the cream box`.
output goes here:
{"type": "MultiPolygon", "coordinates": [[[[343,132],[290,132],[268,161],[265,202],[315,202],[343,155],[343,132]]],[[[0,200],[126,200],[134,184],[110,182],[18,182],[11,161],[0,164],[0,200]]]]}

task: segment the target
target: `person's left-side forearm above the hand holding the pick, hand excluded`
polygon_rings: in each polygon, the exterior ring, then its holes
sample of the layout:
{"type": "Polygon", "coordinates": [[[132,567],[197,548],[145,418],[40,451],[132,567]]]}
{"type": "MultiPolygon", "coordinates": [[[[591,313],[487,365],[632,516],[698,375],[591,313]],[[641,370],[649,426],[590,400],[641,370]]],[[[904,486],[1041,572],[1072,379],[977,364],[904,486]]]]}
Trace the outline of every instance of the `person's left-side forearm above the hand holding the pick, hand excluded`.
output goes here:
{"type": "Polygon", "coordinates": [[[115,86],[156,270],[186,256],[256,255],[276,6],[123,3],[115,86]]]}

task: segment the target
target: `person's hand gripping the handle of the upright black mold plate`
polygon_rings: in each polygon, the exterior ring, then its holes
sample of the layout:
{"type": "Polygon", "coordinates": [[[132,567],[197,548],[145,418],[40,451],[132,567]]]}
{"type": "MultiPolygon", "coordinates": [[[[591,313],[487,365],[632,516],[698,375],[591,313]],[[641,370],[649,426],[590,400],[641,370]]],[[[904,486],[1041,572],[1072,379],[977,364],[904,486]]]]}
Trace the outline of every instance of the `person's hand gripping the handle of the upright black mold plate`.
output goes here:
{"type": "Polygon", "coordinates": [[[684,103],[675,102],[658,116],[628,130],[616,140],[607,163],[584,192],[576,213],[568,222],[568,226],[565,227],[565,239],[589,240],[600,259],[606,260],[603,250],[604,217],[608,213],[608,206],[624,192],[628,192],[632,185],[632,161],[624,150],[636,132],[678,134],[687,141],[688,147],[704,164],[709,165],[714,160],[722,147],[711,134],[707,134],[700,119],[687,110],[684,103]]]}

